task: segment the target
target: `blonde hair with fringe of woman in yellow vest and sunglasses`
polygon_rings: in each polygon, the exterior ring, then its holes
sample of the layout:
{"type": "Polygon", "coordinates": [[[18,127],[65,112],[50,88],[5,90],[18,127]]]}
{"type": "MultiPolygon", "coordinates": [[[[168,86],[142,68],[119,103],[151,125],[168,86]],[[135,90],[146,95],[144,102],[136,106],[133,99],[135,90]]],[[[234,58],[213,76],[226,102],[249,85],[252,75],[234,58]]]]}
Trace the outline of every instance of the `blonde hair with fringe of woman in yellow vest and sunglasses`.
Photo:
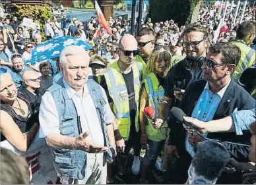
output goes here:
{"type": "Polygon", "coordinates": [[[166,71],[164,72],[164,76],[166,76],[168,70],[171,68],[171,59],[172,55],[170,51],[154,51],[150,56],[148,63],[146,66],[148,68],[148,72],[153,72],[156,74],[156,62],[157,61],[169,61],[166,65],[166,71]]]}

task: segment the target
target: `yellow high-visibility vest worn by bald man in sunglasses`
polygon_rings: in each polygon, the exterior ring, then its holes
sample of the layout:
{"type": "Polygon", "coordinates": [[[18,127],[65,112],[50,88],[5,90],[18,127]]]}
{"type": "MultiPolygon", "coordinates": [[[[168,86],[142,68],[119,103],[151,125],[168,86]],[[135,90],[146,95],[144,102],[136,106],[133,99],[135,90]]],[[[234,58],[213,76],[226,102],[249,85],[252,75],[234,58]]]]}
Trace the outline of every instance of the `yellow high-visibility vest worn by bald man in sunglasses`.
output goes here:
{"type": "MultiPolygon", "coordinates": [[[[133,65],[133,78],[134,78],[134,92],[136,103],[136,117],[135,127],[136,131],[139,131],[139,92],[141,88],[141,63],[135,62],[133,65]]],[[[120,72],[117,63],[113,63],[103,74],[108,86],[108,92],[113,100],[112,111],[115,114],[115,119],[119,132],[124,140],[129,139],[129,132],[131,127],[130,110],[129,110],[129,95],[125,80],[120,72]]]]}

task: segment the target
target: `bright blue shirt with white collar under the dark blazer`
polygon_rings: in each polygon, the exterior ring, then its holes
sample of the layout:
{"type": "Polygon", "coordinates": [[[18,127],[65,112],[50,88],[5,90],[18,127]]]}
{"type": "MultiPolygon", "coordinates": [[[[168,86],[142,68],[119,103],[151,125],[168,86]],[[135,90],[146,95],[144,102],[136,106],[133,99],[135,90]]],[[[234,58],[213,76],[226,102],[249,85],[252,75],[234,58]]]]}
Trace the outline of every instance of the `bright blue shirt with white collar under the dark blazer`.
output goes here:
{"type": "MultiPolygon", "coordinates": [[[[230,85],[230,82],[231,80],[217,93],[212,93],[207,82],[207,84],[205,85],[205,89],[203,90],[197,101],[197,105],[195,105],[195,108],[193,109],[191,117],[201,120],[203,122],[212,120],[224,93],[230,85]]],[[[188,142],[188,136],[189,134],[187,134],[185,139],[185,147],[190,153],[191,157],[193,157],[195,155],[195,152],[193,147],[188,142]]],[[[205,133],[204,136],[207,136],[207,133],[205,133]]]]}

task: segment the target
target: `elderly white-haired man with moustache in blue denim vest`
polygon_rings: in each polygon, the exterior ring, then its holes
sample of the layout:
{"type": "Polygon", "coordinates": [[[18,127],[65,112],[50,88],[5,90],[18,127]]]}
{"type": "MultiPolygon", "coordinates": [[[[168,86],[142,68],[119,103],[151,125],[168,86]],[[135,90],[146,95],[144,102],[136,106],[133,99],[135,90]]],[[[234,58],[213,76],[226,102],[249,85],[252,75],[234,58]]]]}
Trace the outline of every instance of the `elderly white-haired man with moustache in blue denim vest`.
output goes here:
{"type": "Polygon", "coordinates": [[[115,155],[113,114],[103,88],[88,80],[89,60],[81,47],[65,47],[63,78],[42,96],[40,137],[62,184],[106,184],[106,161],[115,155]]]}

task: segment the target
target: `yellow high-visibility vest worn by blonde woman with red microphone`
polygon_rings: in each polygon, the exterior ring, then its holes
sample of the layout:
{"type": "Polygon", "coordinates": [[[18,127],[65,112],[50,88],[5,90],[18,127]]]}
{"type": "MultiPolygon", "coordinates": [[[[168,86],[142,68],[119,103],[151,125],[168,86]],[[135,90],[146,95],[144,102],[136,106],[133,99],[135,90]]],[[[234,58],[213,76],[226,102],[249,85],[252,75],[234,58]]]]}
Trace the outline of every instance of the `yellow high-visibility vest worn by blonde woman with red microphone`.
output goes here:
{"type": "MultiPolygon", "coordinates": [[[[164,99],[164,88],[159,85],[158,79],[154,73],[148,74],[146,79],[143,80],[145,84],[146,93],[148,94],[148,106],[154,107],[156,111],[156,117],[159,115],[158,107],[164,99]],[[159,101],[159,99],[161,99],[159,101]]],[[[166,138],[166,132],[168,130],[167,123],[160,129],[156,129],[152,126],[152,120],[148,120],[148,125],[146,125],[146,133],[148,134],[148,139],[155,142],[160,142],[166,138]]]]}

